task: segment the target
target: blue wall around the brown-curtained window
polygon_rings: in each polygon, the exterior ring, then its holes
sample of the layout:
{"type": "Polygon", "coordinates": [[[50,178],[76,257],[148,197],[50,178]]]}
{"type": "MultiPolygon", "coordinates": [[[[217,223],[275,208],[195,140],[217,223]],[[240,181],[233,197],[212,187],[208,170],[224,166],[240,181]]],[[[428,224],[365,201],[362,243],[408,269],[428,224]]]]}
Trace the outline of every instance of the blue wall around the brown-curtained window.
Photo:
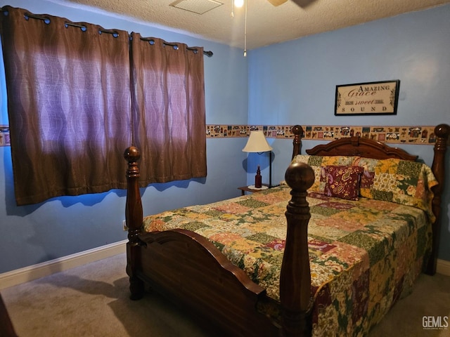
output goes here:
{"type": "MultiPolygon", "coordinates": [[[[117,15],[82,11],[50,1],[0,1],[0,6],[6,5],[36,14],[58,15],[74,22],[92,22],[105,29],[139,32],[143,37],[204,46],[214,53],[212,58],[205,57],[207,124],[247,124],[248,65],[240,49],[175,34],[117,15]]],[[[3,72],[3,67],[0,69],[3,72]]],[[[8,124],[4,74],[0,74],[0,83],[0,124],[8,124]]],[[[243,163],[247,157],[241,151],[244,146],[244,138],[208,139],[207,178],[154,184],[141,190],[144,211],[157,213],[237,197],[240,195],[237,187],[245,185],[246,178],[243,163]]],[[[125,170],[124,160],[124,173],[125,170]]],[[[15,206],[11,148],[0,147],[0,200],[4,201],[0,204],[0,273],[126,239],[127,233],[122,230],[124,195],[123,190],[113,190],[61,197],[33,206],[15,206]]]]}

